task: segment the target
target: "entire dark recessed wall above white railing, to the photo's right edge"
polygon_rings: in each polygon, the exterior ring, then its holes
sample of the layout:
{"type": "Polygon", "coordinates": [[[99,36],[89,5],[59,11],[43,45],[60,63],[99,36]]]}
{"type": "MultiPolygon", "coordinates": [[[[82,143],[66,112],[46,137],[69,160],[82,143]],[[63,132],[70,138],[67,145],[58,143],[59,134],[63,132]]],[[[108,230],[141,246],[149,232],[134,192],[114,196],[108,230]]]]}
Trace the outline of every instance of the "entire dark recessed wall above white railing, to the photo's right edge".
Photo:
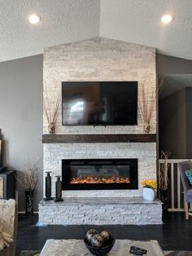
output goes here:
{"type": "Polygon", "coordinates": [[[192,88],[185,87],[159,101],[160,149],[170,158],[192,158],[192,88]]]}

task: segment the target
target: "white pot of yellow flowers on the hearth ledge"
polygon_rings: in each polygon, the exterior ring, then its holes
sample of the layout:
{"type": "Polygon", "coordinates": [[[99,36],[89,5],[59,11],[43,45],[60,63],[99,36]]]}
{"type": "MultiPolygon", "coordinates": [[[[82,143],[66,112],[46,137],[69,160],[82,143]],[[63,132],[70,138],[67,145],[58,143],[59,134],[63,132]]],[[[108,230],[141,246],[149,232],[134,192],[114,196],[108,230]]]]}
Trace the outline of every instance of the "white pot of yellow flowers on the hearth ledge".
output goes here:
{"type": "Polygon", "coordinates": [[[154,179],[146,179],[142,182],[143,190],[142,196],[146,200],[154,201],[155,199],[155,189],[157,188],[157,183],[154,179]]]}

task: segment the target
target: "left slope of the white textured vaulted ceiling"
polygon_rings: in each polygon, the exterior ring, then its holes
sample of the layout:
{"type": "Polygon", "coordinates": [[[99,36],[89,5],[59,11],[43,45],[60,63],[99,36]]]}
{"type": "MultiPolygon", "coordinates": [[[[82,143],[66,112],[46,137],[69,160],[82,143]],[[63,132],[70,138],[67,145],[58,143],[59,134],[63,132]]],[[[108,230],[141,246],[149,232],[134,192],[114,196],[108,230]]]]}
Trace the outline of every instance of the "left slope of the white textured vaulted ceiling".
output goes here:
{"type": "Polygon", "coordinates": [[[0,0],[0,61],[98,35],[98,0],[0,0]],[[42,17],[38,26],[28,24],[33,13],[42,17]]]}

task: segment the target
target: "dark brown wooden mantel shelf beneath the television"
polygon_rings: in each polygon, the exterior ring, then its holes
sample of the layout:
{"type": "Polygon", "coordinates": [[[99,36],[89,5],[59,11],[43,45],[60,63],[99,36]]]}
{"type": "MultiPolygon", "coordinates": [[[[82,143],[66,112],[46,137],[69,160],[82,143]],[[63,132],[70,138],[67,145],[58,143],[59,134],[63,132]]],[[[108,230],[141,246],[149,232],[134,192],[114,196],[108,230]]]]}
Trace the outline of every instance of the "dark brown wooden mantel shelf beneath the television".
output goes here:
{"type": "Polygon", "coordinates": [[[146,143],[156,142],[155,134],[137,135],[42,135],[42,143],[146,143]]]}

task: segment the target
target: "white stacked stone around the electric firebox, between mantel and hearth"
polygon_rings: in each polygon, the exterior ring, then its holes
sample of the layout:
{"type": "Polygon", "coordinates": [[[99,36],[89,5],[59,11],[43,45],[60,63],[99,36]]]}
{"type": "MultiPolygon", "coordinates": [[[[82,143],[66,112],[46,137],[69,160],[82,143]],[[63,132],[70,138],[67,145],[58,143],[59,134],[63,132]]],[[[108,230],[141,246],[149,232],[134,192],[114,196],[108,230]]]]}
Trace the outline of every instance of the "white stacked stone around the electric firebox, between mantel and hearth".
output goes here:
{"type": "MultiPolygon", "coordinates": [[[[45,143],[44,170],[61,175],[62,159],[137,158],[138,190],[63,191],[63,196],[142,196],[143,179],[156,179],[156,143],[45,143]]],[[[55,179],[52,179],[55,195],[55,179]]]]}

